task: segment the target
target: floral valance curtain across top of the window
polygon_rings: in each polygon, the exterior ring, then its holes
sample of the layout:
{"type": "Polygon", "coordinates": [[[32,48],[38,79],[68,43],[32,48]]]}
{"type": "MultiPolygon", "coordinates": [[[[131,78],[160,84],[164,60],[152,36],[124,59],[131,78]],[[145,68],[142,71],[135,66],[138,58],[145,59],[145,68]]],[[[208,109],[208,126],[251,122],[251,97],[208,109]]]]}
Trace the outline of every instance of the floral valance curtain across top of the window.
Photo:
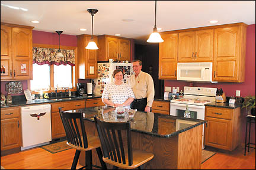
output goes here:
{"type": "Polygon", "coordinates": [[[66,66],[66,64],[69,64],[71,66],[75,66],[74,50],[60,49],[64,57],[56,57],[58,51],[59,49],[56,48],[33,47],[33,64],[48,64],[49,66],[53,64],[56,66],[59,66],[60,64],[66,66]]]}

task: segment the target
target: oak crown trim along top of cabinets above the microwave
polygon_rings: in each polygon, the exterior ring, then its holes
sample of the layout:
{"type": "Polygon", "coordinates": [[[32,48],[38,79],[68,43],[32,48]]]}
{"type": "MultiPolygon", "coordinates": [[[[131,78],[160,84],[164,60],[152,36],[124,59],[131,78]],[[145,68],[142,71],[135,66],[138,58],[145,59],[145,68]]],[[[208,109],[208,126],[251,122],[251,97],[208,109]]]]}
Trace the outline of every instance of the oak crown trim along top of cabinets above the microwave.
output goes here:
{"type": "Polygon", "coordinates": [[[183,30],[173,30],[173,31],[165,31],[165,32],[159,32],[159,34],[171,34],[171,33],[178,33],[178,32],[187,32],[187,31],[199,31],[199,30],[208,30],[208,29],[215,29],[215,28],[223,28],[223,27],[236,27],[243,25],[247,27],[248,25],[244,22],[238,22],[234,24],[223,24],[223,25],[213,25],[213,26],[207,26],[207,27],[197,27],[197,28],[187,28],[183,30]]]}

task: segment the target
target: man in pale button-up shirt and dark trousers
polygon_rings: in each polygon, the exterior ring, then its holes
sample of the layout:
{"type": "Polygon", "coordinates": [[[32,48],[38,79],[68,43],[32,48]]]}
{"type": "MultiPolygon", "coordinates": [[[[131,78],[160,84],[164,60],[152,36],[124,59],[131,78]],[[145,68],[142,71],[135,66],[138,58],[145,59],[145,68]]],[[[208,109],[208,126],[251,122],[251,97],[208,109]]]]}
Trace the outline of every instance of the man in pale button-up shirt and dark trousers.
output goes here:
{"type": "Polygon", "coordinates": [[[143,71],[142,61],[132,61],[133,74],[130,77],[130,87],[132,87],[133,93],[136,99],[133,100],[130,107],[144,112],[151,112],[153,98],[155,96],[155,89],[153,85],[152,77],[143,71]]]}

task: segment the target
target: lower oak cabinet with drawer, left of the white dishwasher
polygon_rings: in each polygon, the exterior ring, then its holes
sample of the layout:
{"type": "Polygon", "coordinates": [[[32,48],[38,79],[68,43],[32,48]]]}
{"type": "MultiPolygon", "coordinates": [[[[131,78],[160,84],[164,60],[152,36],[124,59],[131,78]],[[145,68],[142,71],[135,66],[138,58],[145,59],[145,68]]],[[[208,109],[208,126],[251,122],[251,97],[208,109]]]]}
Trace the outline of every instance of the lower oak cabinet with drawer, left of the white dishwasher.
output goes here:
{"type": "Polygon", "coordinates": [[[21,146],[20,107],[1,108],[1,151],[21,146]]]}

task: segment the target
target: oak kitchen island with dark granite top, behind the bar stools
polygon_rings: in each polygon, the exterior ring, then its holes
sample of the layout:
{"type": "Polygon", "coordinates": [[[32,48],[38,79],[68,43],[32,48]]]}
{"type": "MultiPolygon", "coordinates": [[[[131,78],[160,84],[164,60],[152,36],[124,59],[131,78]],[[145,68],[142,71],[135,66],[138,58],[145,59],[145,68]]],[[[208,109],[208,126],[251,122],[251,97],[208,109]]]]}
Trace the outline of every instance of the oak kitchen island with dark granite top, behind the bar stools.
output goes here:
{"type": "MultiPolygon", "coordinates": [[[[137,111],[133,117],[124,114],[117,117],[115,108],[100,106],[68,112],[84,113],[88,135],[98,135],[94,115],[111,122],[131,122],[132,147],[153,152],[154,158],[143,169],[200,169],[201,142],[204,120],[188,119],[137,111]]],[[[85,152],[81,152],[79,164],[85,165],[85,152]]],[[[96,151],[92,151],[92,164],[100,166],[96,151]]],[[[112,168],[107,165],[108,168],[112,168]]]]}

